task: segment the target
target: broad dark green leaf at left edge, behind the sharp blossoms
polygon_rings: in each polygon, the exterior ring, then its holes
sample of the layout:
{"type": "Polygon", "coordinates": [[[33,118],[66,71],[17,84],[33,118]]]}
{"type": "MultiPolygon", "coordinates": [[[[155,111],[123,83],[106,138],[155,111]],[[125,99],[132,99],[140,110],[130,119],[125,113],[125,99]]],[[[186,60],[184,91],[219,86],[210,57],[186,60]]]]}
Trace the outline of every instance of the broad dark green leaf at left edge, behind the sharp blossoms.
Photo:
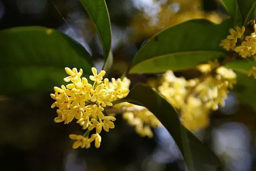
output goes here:
{"type": "Polygon", "coordinates": [[[54,29],[19,27],[0,31],[0,94],[46,91],[67,76],[65,67],[91,73],[92,57],[76,41],[54,29]]]}

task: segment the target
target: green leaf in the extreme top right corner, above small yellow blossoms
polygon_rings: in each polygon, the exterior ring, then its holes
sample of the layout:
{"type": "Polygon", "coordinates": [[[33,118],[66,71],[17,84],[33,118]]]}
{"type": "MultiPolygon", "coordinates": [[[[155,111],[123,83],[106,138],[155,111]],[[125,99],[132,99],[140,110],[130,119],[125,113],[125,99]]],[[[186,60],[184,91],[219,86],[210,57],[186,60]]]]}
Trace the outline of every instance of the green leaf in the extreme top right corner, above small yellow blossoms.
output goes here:
{"type": "Polygon", "coordinates": [[[243,17],[243,25],[256,18],[256,0],[238,0],[238,5],[243,17]]]}

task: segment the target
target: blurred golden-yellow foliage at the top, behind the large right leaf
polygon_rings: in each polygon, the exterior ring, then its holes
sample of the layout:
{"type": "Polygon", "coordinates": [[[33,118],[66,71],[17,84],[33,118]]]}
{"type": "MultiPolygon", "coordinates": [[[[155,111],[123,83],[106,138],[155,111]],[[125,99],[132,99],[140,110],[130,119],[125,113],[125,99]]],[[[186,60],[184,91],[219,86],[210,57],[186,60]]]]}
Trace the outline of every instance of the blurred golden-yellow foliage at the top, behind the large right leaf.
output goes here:
{"type": "Polygon", "coordinates": [[[131,28],[135,30],[134,39],[151,37],[163,29],[192,19],[206,18],[216,24],[223,20],[216,12],[205,12],[201,0],[158,1],[142,9],[131,23],[131,28]]]}

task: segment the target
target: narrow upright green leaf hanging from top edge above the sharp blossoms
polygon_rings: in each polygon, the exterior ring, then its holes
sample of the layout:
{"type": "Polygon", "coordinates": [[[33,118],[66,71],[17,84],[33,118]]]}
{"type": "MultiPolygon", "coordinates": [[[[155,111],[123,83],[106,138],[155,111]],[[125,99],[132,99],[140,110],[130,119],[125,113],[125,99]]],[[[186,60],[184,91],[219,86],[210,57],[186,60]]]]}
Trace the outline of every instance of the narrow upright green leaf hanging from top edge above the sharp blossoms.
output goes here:
{"type": "Polygon", "coordinates": [[[94,22],[102,44],[105,65],[107,65],[105,69],[109,69],[112,65],[112,59],[108,60],[108,57],[111,58],[111,55],[109,55],[111,49],[111,26],[106,2],[105,0],[80,0],[80,2],[94,22]]]}

